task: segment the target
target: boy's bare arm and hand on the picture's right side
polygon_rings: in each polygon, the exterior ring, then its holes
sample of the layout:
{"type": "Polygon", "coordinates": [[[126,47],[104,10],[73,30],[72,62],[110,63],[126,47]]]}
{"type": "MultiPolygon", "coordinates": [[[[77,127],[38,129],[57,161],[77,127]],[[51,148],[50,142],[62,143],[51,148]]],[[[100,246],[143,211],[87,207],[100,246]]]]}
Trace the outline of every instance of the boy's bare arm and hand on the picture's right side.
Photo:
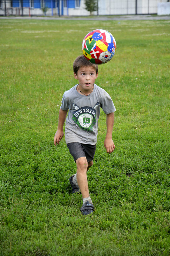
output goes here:
{"type": "Polygon", "coordinates": [[[114,112],[110,114],[106,114],[107,132],[106,132],[106,137],[104,141],[104,146],[107,150],[107,153],[109,154],[111,154],[115,149],[114,142],[112,141],[113,124],[114,124],[114,112]]]}

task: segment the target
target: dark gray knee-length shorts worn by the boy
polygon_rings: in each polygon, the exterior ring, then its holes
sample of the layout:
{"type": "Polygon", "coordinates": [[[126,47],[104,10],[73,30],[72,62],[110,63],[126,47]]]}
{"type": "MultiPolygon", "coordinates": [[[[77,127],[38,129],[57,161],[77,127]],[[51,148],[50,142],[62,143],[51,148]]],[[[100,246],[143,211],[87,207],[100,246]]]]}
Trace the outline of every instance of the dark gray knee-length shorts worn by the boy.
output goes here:
{"type": "Polygon", "coordinates": [[[86,157],[87,162],[90,162],[94,159],[96,145],[72,142],[68,143],[67,147],[70,151],[70,154],[73,156],[75,162],[80,157],[86,157]]]}

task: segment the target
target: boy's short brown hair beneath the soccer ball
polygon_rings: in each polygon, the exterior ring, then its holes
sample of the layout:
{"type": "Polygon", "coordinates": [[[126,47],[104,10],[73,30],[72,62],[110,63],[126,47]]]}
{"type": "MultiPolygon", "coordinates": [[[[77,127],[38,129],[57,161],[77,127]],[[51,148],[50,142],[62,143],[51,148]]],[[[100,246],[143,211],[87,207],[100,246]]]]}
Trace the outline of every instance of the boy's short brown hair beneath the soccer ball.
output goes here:
{"type": "Polygon", "coordinates": [[[95,69],[96,74],[98,73],[98,65],[88,61],[84,55],[78,56],[73,63],[73,71],[76,73],[76,75],[81,67],[92,67],[95,69]]]}

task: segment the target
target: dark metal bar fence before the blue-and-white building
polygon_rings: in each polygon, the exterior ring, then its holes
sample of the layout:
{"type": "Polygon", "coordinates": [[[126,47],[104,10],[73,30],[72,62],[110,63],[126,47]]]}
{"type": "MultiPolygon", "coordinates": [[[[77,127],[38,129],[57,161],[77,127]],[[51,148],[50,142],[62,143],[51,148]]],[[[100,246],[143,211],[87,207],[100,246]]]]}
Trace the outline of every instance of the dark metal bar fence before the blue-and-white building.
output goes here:
{"type": "Polygon", "coordinates": [[[86,10],[85,0],[0,0],[3,16],[89,16],[157,14],[159,2],[169,0],[96,0],[97,10],[86,10]]]}

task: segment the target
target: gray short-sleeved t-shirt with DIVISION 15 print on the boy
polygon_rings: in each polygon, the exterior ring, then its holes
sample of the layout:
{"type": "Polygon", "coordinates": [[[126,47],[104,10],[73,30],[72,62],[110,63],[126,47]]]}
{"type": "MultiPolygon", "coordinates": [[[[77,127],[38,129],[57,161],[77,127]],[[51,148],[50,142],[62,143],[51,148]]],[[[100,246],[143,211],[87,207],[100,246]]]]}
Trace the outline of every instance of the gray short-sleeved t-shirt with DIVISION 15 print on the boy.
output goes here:
{"type": "Polygon", "coordinates": [[[65,122],[65,141],[66,144],[79,142],[95,145],[100,107],[105,114],[116,109],[109,94],[96,84],[89,97],[78,93],[76,87],[77,84],[65,91],[61,102],[62,110],[69,109],[65,122]]]}

